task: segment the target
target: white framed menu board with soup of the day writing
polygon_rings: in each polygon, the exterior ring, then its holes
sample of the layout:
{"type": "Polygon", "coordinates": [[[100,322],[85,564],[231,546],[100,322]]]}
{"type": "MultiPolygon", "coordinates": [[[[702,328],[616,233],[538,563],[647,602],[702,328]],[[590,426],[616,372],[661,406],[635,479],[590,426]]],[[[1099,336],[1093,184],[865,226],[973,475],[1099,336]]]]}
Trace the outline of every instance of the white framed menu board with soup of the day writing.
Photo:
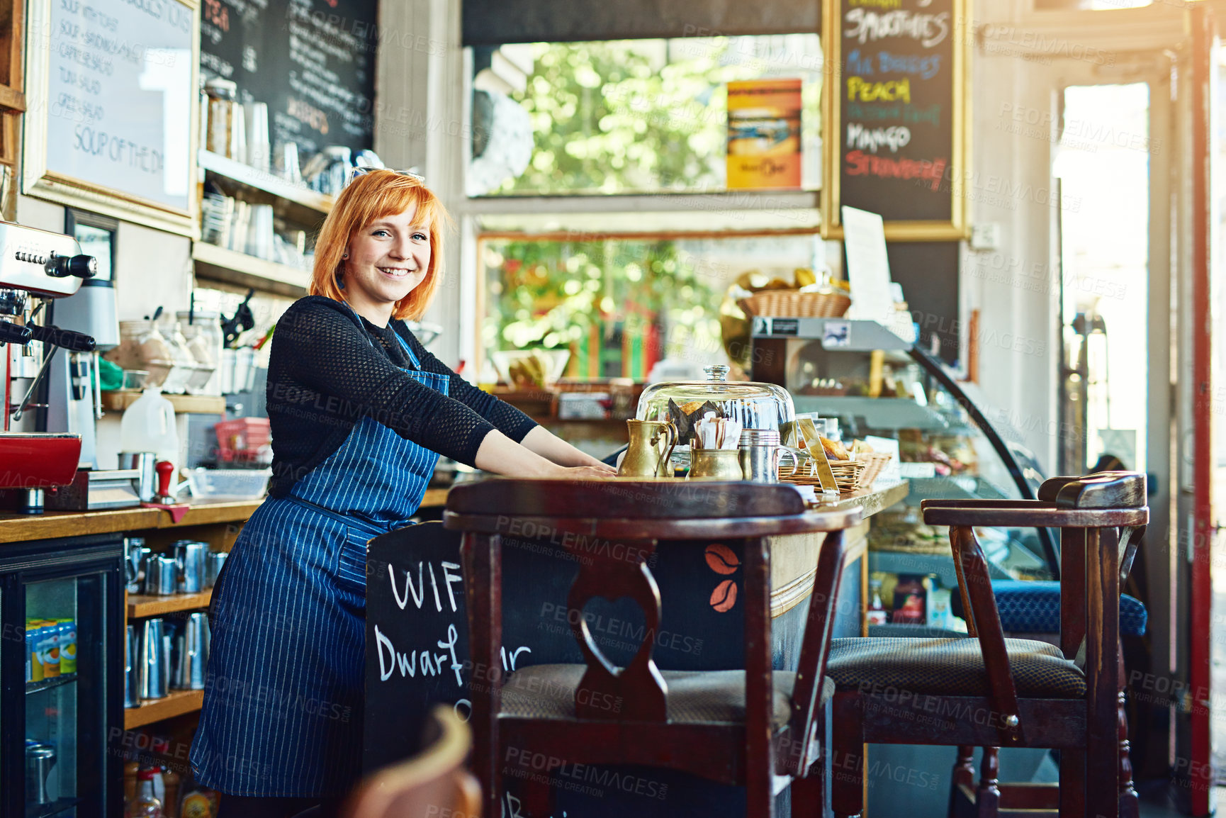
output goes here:
{"type": "Polygon", "coordinates": [[[22,193],[199,235],[195,0],[29,0],[22,193]]]}

